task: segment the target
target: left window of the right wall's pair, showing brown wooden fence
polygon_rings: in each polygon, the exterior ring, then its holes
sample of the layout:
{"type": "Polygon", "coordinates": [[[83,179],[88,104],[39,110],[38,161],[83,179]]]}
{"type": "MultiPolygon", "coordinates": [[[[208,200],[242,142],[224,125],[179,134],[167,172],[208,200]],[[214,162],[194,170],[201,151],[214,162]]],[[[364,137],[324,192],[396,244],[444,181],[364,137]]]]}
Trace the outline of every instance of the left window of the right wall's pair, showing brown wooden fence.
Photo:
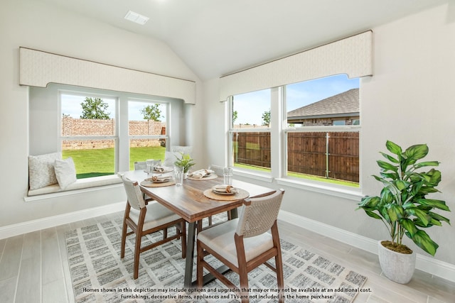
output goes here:
{"type": "Polygon", "coordinates": [[[270,89],[232,97],[230,165],[270,172],[270,89]]]}

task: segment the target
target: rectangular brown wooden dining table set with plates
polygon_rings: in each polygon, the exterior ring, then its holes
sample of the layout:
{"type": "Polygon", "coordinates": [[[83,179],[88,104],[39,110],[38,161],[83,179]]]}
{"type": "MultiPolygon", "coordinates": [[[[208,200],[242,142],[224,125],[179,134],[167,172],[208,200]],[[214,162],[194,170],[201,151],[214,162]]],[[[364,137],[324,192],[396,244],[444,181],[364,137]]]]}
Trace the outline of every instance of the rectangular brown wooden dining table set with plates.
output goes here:
{"type": "MultiPolygon", "coordinates": [[[[143,170],[129,171],[125,174],[130,180],[136,180],[139,184],[147,177],[150,177],[143,170]]],[[[193,281],[193,258],[196,231],[201,227],[198,224],[201,224],[202,219],[224,211],[230,211],[231,218],[237,217],[237,207],[241,206],[245,200],[243,197],[237,199],[237,194],[232,195],[229,199],[226,199],[225,196],[220,196],[219,199],[207,197],[204,192],[217,184],[223,184],[223,177],[212,176],[200,180],[187,179],[183,181],[182,186],[164,184],[164,186],[147,187],[141,185],[141,191],[146,196],[171,209],[188,222],[184,279],[184,287],[186,288],[195,287],[196,285],[196,281],[193,281]]],[[[241,189],[244,193],[246,191],[247,197],[264,197],[276,192],[275,189],[240,180],[232,180],[232,186],[241,189]]],[[[213,194],[210,196],[213,197],[213,194]]],[[[242,196],[245,196],[245,194],[242,196]]],[[[210,280],[210,276],[205,277],[204,280],[210,280]]]]}

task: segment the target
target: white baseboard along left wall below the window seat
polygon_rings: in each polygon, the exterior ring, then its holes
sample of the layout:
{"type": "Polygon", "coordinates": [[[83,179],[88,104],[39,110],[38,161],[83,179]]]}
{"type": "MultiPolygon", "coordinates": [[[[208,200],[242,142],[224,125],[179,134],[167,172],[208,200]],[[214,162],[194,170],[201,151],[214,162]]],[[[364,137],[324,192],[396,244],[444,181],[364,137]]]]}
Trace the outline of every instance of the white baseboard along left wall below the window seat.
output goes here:
{"type": "Polygon", "coordinates": [[[18,236],[23,233],[30,233],[32,231],[39,231],[44,228],[68,224],[75,221],[93,218],[95,216],[102,216],[111,214],[116,211],[122,211],[125,208],[126,202],[117,202],[105,206],[94,207],[92,209],[82,209],[68,214],[60,214],[58,216],[48,216],[42,219],[36,219],[9,226],[0,227],[0,240],[12,236],[18,236]]]}

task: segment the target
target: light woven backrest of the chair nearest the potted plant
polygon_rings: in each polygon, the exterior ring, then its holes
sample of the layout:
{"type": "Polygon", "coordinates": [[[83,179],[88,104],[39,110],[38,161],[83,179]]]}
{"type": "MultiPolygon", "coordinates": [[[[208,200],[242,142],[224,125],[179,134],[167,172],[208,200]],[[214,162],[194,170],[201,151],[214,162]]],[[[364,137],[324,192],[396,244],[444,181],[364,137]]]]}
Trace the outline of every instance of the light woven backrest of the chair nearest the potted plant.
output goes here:
{"type": "Polygon", "coordinates": [[[277,190],[266,197],[246,199],[240,209],[236,233],[244,238],[259,236],[269,231],[278,218],[284,191],[277,190]]]}

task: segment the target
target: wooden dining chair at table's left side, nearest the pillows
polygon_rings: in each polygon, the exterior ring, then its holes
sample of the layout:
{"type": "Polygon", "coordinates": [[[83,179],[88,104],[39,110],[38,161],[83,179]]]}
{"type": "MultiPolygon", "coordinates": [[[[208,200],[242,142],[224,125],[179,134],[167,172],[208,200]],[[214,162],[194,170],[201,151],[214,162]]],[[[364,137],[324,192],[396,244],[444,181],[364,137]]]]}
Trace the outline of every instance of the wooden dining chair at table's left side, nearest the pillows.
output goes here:
{"type": "Polygon", "coordinates": [[[144,251],[155,248],[161,244],[181,238],[182,258],[186,257],[186,222],[173,211],[167,209],[159,203],[145,204],[144,197],[139,189],[137,181],[129,180],[122,176],[123,185],[127,192],[127,207],[125,209],[122,244],[120,258],[124,258],[125,244],[127,236],[134,233],[136,241],[134,243],[134,279],[139,275],[139,255],[144,251]],[[168,236],[167,230],[171,226],[176,226],[176,234],[168,236]],[[127,228],[132,231],[127,232],[127,228]],[[141,247],[142,236],[149,233],[163,231],[163,238],[147,246],[141,247]]]}

